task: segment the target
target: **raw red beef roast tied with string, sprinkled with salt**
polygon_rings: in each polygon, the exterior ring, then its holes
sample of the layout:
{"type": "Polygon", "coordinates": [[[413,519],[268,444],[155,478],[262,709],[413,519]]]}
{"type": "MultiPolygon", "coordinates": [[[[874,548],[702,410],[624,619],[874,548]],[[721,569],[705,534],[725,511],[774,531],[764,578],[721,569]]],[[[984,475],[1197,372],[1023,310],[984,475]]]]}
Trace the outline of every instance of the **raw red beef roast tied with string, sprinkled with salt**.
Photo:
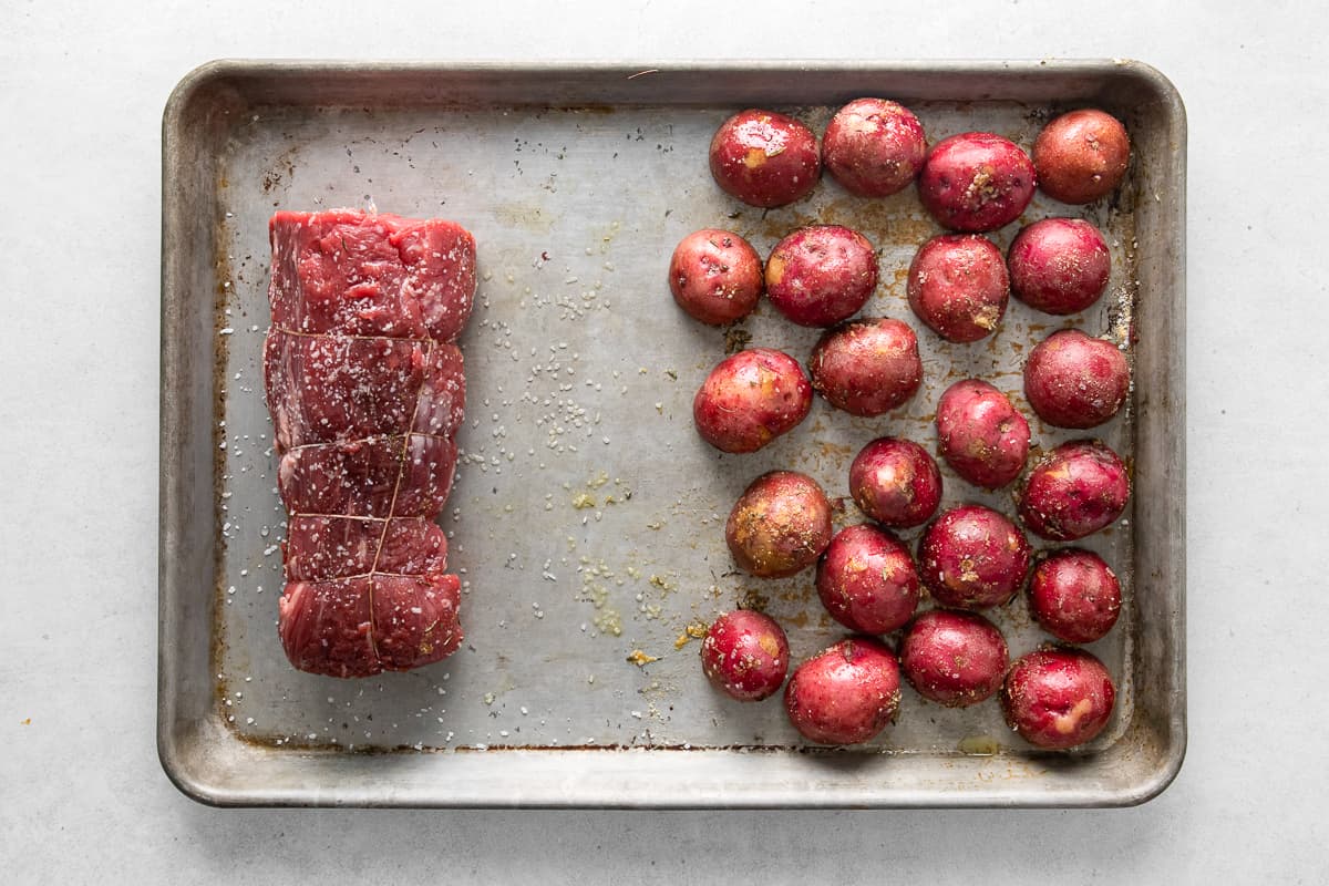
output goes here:
{"type": "Polygon", "coordinates": [[[437,662],[461,643],[461,582],[433,521],[457,465],[474,238],[355,210],[276,213],[268,234],[282,646],[338,677],[437,662]]]}

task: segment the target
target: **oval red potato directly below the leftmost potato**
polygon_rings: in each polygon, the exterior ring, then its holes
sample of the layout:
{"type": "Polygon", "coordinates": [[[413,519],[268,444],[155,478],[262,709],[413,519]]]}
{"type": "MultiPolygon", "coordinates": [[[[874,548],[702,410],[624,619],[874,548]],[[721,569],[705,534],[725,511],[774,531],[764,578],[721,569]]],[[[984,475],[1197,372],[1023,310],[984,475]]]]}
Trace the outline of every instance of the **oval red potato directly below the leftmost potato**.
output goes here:
{"type": "Polygon", "coordinates": [[[811,408],[812,384],[797,360],[750,348],[711,369],[692,399],[692,421],[716,449],[747,453],[792,430],[811,408]]]}

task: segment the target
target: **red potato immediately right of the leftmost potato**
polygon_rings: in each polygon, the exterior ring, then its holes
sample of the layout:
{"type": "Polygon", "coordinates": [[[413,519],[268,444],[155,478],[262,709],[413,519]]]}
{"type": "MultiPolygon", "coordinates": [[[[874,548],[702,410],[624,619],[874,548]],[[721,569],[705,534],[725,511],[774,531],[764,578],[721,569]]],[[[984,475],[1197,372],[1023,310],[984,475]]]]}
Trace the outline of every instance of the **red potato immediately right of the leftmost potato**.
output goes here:
{"type": "Polygon", "coordinates": [[[839,224],[793,231],[766,262],[766,298],[799,325],[835,325],[857,313],[876,288],[872,243],[839,224]]]}

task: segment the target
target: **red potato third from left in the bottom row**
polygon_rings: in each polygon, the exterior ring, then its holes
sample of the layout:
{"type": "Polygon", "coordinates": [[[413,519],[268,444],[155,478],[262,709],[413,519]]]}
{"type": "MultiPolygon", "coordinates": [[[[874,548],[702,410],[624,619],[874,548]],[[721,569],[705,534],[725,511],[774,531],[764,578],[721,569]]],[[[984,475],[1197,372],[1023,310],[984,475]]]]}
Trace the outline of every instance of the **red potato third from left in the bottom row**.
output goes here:
{"type": "Polygon", "coordinates": [[[929,610],[900,642],[900,669],[922,697],[968,708],[1001,688],[1006,639],[982,615],[929,610]]]}

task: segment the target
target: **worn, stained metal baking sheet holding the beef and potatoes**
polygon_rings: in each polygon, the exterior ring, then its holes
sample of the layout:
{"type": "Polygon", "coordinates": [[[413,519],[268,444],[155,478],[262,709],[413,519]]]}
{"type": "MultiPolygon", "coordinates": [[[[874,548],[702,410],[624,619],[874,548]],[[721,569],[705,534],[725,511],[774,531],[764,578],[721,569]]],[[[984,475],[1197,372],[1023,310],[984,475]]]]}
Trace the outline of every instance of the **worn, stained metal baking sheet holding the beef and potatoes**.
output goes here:
{"type": "MultiPolygon", "coordinates": [[[[1155,796],[1185,744],[1184,162],[1177,94],[1131,61],[195,70],[163,121],[166,772],[218,805],[1111,806],[1155,796]],[[950,345],[905,302],[908,263],[938,232],[913,189],[867,201],[825,178],[811,198],[762,211],[712,183],[706,151],[728,114],[775,108],[820,132],[868,94],[913,108],[932,142],[991,130],[1030,147],[1058,110],[1120,116],[1134,141],[1120,193],[1074,210],[1039,194],[1022,219],[1099,224],[1114,260],[1104,299],[1066,320],[1013,302],[995,336],[950,345]],[[268,217],[343,206],[456,219],[476,235],[481,271],[461,339],[462,456],[440,517],[465,580],[466,642],[443,663],[354,681],[294,671],[276,639],[284,513],[259,363],[268,217]],[[739,231],[766,254],[813,222],[876,244],[881,283],[864,313],[920,329],[924,389],[877,420],[819,400],[760,453],[722,456],[691,422],[708,368],[746,336],[805,359],[816,332],[768,304],[739,332],[691,321],[668,295],[670,254],[699,227],[739,231]],[[848,502],[859,448],[884,434],[933,448],[937,396],[969,375],[1033,420],[1023,356],[1061,325],[1127,344],[1135,372],[1127,409],[1095,432],[1130,460],[1132,505],[1086,542],[1126,592],[1119,624],[1091,646],[1120,689],[1108,729],[1073,753],[1038,752],[995,700],[950,711],[906,688],[877,740],[817,749],[779,697],[743,705],[712,691],[690,632],[724,610],[764,607],[795,662],[843,635],[811,571],[763,582],[732,569],[723,522],[747,482],[793,468],[848,502]]],[[[993,238],[1005,248],[1017,228],[993,238]]],[[[1031,424],[1042,448],[1073,436],[1031,424]]],[[[1013,513],[1009,493],[944,472],[944,506],[1013,513]]],[[[848,502],[837,523],[860,519],[848,502]]],[[[1023,599],[993,618],[1013,656],[1050,640],[1023,599]]]]}

